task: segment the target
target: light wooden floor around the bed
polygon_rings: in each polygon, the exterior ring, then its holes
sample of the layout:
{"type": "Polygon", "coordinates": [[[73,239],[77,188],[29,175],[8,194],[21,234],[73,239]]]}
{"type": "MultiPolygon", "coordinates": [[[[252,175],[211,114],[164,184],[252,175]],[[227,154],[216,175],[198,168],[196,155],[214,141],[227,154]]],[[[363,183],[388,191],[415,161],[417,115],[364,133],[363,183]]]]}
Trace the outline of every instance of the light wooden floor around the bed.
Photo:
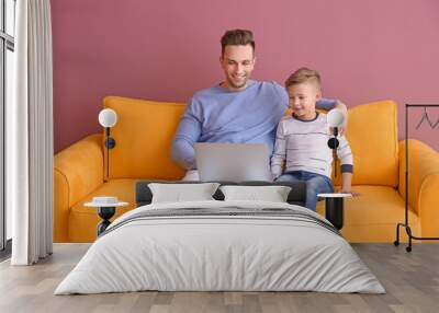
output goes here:
{"type": "Polygon", "coordinates": [[[412,253],[392,244],[354,244],[387,293],[132,292],[53,295],[88,244],[55,244],[35,266],[0,264],[0,312],[439,312],[439,244],[412,253]]]}

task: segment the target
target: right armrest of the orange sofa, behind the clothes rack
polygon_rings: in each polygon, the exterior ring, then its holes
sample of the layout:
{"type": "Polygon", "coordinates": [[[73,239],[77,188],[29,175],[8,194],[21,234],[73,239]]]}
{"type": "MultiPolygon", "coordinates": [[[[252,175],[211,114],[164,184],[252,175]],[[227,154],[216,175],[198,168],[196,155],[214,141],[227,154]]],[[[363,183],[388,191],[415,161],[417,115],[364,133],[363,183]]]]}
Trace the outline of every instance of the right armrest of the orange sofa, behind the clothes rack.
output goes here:
{"type": "MultiPolygon", "coordinates": [[[[399,186],[405,198],[405,141],[399,142],[399,186]]],[[[419,216],[423,236],[439,236],[439,153],[408,140],[408,205],[419,216]]]]}

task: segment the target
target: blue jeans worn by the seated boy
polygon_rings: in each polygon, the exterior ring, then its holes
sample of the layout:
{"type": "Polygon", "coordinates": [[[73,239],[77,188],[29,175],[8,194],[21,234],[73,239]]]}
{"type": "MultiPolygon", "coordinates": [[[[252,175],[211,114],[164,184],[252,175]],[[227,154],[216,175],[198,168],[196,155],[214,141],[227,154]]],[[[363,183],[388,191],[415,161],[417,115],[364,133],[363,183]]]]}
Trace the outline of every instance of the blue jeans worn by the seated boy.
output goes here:
{"type": "Polygon", "coordinates": [[[306,171],[286,172],[279,176],[277,182],[306,182],[305,207],[315,211],[318,194],[334,193],[333,182],[325,175],[319,175],[306,171]]]}

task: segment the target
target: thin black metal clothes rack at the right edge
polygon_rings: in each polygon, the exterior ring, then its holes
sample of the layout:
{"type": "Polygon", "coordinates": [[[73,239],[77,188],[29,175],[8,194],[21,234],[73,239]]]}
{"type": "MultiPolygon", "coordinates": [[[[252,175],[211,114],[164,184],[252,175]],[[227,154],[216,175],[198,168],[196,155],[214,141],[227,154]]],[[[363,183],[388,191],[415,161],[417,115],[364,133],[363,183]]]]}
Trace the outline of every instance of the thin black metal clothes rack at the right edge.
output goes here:
{"type": "Polygon", "coordinates": [[[405,221],[396,225],[396,240],[394,245],[399,245],[399,227],[405,228],[408,235],[408,246],[405,247],[406,252],[412,252],[413,240],[439,240],[439,237],[420,237],[412,234],[412,229],[408,225],[408,108],[409,107],[439,107],[439,104],[406,104],[405,105],[405,221]]]}

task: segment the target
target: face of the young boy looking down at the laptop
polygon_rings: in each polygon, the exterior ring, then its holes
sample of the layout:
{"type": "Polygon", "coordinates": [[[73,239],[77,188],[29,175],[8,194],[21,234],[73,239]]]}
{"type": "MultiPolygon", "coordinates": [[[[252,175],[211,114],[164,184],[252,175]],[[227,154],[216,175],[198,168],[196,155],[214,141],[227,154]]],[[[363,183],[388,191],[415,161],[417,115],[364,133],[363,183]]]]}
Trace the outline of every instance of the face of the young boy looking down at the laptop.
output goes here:
{"type": "Polygon", "coordinates": [[[314,82],[303,82],[288,88],[290,107],[302,118],[315,116],[315,104],[322,97],[320,91],[314,82]]]}

